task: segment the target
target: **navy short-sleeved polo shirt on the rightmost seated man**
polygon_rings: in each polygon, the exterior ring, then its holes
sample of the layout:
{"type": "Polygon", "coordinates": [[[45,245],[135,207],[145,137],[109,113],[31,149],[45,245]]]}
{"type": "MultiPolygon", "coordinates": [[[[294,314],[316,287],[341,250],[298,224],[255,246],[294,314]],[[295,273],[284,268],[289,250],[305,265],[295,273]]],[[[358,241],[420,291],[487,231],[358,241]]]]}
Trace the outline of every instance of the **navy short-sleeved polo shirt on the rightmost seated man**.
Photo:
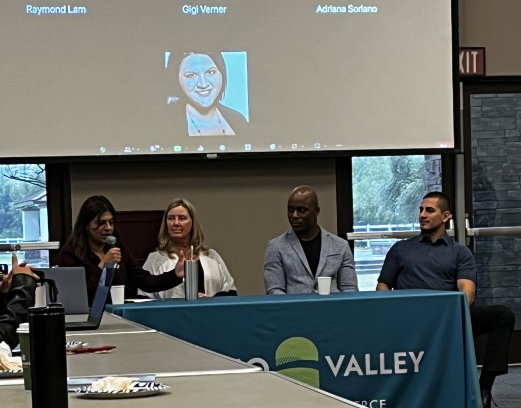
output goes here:
{"type": "Polygon", "coordinates": [[[391,247],[378,282],[394,289],[457,290],[458,279],[476,283],[472,252],[447,234],[435,243],[420,234],[391,247]]]}

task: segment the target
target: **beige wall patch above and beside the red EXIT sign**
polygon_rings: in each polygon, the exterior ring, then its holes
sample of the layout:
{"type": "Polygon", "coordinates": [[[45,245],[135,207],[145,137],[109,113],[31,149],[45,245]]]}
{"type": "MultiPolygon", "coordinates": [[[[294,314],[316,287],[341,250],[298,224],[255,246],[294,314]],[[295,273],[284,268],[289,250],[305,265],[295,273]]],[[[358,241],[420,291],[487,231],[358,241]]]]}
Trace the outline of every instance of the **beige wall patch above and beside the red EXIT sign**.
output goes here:
{"type": "Polygon", "coordinates": [[[460,47],[485,47],[486,74],[520,75],[519,0],[459,0],[460,47]]]}

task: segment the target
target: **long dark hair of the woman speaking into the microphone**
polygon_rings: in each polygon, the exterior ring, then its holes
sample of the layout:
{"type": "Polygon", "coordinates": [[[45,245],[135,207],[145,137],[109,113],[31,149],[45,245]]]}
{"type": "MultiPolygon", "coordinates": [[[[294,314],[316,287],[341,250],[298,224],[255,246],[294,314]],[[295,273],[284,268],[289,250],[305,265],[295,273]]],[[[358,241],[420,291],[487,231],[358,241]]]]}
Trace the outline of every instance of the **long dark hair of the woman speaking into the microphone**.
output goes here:
{"type": "Polygon", "coordinates": [[[92,263],[89,260],[89,235],[87,227],[94,219],[100,221],[100,216],[104,212],[110,212],[114,217],[114,235],[116,233],[116,211],[110,201],[104,196],[92,196],[85,200],[78,213],[78,218],[72,228],[67,244],[71,245],[77,257],[85,263],[92,263]]]}

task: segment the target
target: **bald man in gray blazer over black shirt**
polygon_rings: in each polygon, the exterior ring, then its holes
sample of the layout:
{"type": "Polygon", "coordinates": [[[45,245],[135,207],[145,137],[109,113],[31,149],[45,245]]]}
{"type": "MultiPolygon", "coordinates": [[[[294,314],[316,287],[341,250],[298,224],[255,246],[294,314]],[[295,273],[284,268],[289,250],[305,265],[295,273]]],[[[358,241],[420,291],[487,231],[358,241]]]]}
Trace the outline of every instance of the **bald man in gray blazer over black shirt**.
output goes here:
{"type": "Polygon", "coordinates": [[[317,277],[331,276],[331,292],[357,291],[353,254],[348,242],[317,223],[315,190],[300,186],[288,200],[291,230],[271,239],[264,254],[268,295],[317,291],[317,277]]]}

